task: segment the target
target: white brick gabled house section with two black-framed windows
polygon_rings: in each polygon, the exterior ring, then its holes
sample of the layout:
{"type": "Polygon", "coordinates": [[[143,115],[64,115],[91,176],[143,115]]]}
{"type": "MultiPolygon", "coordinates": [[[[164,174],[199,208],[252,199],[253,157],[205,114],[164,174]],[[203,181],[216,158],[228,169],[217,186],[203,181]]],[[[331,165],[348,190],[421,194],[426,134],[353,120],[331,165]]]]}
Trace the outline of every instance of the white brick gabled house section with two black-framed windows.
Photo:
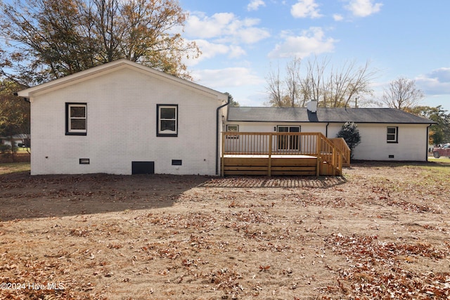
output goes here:
{"type": "Polygon", "coordinates": [[[30,99],[31,174],[218,174],[227,96],[117,60],[18,93],[30,99]]]}

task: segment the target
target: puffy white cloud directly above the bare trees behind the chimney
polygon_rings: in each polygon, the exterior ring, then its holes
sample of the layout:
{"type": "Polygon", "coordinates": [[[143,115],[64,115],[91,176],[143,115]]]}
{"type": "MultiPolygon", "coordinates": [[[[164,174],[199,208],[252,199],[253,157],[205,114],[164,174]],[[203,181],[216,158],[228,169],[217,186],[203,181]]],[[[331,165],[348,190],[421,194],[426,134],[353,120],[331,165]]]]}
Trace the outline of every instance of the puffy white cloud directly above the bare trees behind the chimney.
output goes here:
{"type": "Polygon", "coordinates": [[[326,38],[319,27],[311,27],[301,36],[288,36],[283,44],[277,44],[269,53],[269,58],[305,58],[311,53],[332,52],[337,40],[326,38]]]}

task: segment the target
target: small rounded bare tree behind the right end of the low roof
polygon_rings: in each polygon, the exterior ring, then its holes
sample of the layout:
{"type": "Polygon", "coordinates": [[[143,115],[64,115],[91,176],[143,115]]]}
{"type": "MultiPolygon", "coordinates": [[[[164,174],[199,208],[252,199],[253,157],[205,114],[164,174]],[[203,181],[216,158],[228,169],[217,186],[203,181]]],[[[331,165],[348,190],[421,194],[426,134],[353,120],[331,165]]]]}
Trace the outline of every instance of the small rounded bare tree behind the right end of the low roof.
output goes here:
{"type": "Polygon", "coordinates": [[[416,88],[415,80],[399,77],[385,88],[382,100],[389,107],[409,110],[417,106],[424,96],[423,91],[416,88]]]}

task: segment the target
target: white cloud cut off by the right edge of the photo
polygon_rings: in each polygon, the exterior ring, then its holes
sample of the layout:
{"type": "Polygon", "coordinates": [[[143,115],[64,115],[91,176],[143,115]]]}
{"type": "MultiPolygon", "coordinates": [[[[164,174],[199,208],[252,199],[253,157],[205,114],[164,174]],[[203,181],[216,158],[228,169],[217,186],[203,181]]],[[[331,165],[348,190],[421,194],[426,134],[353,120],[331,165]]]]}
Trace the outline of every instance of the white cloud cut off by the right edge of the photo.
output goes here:
{"type": "Polygon", "coordinates": [[[416,78],[417,86],[428,96],[450,94],[450,67],[432,70],[416,78]]]}

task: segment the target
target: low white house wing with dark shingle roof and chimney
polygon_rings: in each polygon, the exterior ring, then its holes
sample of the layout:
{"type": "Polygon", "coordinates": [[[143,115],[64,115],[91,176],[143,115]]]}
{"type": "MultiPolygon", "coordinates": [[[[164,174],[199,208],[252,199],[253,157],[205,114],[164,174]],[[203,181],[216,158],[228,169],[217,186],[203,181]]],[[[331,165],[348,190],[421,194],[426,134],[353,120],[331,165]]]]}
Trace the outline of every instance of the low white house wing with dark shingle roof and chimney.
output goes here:
{"type": "Polygon", "coordinates": [[[427,161],[428,128],[435,122],[393,108],[229,107],[227,131],[321,132],[335,138],[354,122],[361,143],[354,159],[427,161]]]}

